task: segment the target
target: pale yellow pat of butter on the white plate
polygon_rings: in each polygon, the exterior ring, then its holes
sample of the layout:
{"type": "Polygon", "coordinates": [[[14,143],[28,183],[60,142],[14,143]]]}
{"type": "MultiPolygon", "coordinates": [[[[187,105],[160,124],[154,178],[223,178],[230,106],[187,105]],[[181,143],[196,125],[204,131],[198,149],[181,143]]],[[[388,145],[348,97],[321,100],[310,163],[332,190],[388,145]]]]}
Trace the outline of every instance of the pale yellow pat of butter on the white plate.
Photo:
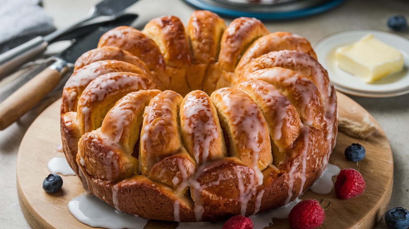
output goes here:
{"type": "Polygon", "coordinates": [[[403,68],[402,53],[372,34],[356,43],[337,48],[335,58],[339,68],[362,77],[368,83],[403,68]]]}

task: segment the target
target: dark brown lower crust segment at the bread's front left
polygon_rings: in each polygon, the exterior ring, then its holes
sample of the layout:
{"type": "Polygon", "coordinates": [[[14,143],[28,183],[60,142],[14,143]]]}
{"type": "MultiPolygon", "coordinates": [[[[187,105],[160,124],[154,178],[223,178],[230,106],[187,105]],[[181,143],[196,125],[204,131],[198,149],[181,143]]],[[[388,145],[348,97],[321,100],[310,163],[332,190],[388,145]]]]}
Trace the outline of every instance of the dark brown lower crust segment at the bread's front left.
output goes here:
{"type": "Polygon", "coordinates": [[[191,198],[162,183],[135,175],[113,184],[109,180],[92,177],[84,171],[85,187],[119,211],[156,220],[193,222],[194,211],[191,198]]]}

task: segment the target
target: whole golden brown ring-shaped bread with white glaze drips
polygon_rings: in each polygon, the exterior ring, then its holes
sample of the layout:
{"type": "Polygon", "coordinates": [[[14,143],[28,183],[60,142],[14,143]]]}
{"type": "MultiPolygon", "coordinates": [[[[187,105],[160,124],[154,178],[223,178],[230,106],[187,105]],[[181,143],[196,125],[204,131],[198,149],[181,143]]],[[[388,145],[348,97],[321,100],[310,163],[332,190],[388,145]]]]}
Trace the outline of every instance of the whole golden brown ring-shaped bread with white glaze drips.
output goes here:
{"type": "Polygon", "coordinates": [[[222,221],[281,207],[335,144],[337,98],[310,43],[254,18],[226,27],[195,11],[186,31],[175,16],[118,27],[76,67],[61,106],[67,161],[84,189],[133,215],[222,221]]]}

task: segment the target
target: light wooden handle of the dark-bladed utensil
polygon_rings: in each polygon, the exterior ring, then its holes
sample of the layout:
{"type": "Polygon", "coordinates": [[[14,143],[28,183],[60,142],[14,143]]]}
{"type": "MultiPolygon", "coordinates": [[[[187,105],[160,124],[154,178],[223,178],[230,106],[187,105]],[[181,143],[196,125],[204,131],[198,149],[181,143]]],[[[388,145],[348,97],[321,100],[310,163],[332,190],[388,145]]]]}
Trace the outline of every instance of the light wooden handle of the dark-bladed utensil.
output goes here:
{"type": "Polygon", "coordinates": [[[0,104],[0,130],[18,120],[40,102],[61,79],[61,73],[47,67],[0,104]]]}

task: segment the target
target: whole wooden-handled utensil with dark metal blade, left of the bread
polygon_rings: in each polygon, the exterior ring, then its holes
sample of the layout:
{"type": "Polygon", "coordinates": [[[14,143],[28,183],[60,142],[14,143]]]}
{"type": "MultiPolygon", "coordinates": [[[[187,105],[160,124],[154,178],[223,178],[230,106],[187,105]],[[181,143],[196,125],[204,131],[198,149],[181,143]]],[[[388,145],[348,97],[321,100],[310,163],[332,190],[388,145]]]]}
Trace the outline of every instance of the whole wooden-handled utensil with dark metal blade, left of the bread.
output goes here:
{"type": "Polygon", "coordinates": [[[0,130],[18,120],[23,114],[40,102],[58,84],[68,71],[67,64],[74,66],[82,53],[97,47],[99,38],[110,29],[120,25],[129,25],[137,18],[136,14],[124,14],[112,22],[95,29],[83,38],[76,40],[70,47],[57,54],[56,62],[34,76],[11,96],[0,103],[0,130]]]}

